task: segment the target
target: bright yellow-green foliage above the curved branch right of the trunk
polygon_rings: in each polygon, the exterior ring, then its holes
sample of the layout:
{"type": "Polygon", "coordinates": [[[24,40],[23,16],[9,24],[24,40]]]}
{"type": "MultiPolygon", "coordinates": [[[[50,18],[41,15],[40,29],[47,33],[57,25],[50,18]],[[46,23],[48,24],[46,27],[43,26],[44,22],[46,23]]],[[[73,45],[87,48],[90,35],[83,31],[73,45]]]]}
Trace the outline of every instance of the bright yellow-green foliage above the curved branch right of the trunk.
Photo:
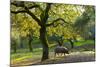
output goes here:
{"type": "Polygon", "coordinates": [[[81,15],[80,10],[82,6],[78,5],[66,5],[66,4],[53,4],[49,11],[49,22],[59,17],[63,18],[67,22],[73,22],[78,16],[81,15]]]}

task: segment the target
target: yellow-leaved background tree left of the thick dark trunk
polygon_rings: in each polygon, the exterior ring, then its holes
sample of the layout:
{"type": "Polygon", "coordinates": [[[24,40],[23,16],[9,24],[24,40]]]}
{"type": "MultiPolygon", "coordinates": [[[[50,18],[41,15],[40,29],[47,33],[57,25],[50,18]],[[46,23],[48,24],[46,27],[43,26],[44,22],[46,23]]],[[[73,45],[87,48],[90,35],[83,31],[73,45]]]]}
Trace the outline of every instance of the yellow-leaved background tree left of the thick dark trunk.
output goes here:
{"type": "MultiPolygon", "coordinates": [[[[35,21],[29,20],[29,17],[26,14],[15,14],[16,16],[12,16],[12,34],[11,35],[17,35],[17,42],[19,44],[19,48],[24,48],[24,40],[28,39],[29,44],[29,51],[33,51],[33,46],[31,44],[34,37],[39,37],[39,26],[35,21]],[[20,16],[20,17],[19,17],[20,16]],[[24,19],[24,20],[23,20],[24,19]],[[37,29],[37,30],[36,30],[37,29]]],[[[15,36],[12,36],[15,37],[15,36]]]]}

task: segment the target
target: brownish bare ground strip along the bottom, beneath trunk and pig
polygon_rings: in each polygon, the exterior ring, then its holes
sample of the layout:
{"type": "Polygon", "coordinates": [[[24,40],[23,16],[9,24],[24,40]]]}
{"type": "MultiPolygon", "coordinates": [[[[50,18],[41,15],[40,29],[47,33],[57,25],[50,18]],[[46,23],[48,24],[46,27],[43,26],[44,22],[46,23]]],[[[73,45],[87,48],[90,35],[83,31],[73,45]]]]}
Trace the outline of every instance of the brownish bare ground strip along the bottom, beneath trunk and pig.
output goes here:
{"type": "MultiPolygon", "coordinates": [[[[66,56],[53,57],[53,53],[50,52],[50,59],[41,62],[39,57],[27,58],[24,61],[12,64],[12,67],[19,66],[32,66],[32,65],[42,65],[42,64],[61,64],[61,63],[77,63],[77,62],[89,62],[95,61],[95,52],[84,51],[84,52],[72,52],[66,56]],[[37,58],[37,59],[36,59],[37,58]]],[[[24,58],[25,59],[25,58],[24,58]]]]}

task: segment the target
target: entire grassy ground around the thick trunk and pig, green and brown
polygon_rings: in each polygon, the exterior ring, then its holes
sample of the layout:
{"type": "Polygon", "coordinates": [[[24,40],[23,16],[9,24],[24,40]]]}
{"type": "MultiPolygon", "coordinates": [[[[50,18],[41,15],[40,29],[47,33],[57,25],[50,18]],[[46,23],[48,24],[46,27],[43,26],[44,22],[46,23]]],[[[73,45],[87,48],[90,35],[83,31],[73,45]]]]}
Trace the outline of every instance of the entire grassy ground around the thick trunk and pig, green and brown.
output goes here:
{"type": "Polygon", "coordinates": [[[53,52],[55,45],[50,44],[50,59],[44,62],[40,62],[42,56],[42,48],[34,48],[33,52],[29,52],[28,49],[19,49],[17,50],[17,53],[11,52],[11,66],[18,67],[20,65],[85,62],[95,60],[95,50],[93,41],[88,40],[86,42],[76,42],[75,44],[77,45],[75,45],[75,47],[69,51],[69,55],[60,56],[56,58],[54,58],[53,52]]]}

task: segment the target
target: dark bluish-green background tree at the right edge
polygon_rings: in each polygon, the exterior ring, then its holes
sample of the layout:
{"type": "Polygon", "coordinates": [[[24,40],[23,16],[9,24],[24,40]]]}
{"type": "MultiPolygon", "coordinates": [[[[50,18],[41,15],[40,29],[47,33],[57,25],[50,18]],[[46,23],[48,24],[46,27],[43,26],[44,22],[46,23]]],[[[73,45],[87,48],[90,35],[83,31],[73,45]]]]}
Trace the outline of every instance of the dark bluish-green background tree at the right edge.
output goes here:
{"type": "Polygon", "coordinates": [[[95,37],[95,7],[84,6],[84,12],[79,16],[74,24],[78,34],[84,39],[94,39],[95,37]]]}

